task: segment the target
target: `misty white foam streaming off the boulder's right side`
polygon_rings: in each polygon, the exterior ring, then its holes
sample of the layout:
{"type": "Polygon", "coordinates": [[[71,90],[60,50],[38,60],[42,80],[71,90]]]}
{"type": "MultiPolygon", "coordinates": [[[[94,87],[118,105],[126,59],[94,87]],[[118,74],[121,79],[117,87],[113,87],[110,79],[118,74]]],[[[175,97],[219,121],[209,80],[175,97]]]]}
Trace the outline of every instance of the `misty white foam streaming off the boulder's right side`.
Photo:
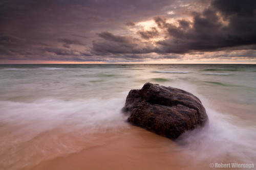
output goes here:
{"type": "Polygon", "coordinates": [[[204,106],[209,126],[183,134],[179,142],[185,143],[186,154],[199,162],[224,163],[221,161],[227,157],[229,161],[255,163],[255,126],[246,125],[239,117],[217,112],[207,103],[204,106]]]}

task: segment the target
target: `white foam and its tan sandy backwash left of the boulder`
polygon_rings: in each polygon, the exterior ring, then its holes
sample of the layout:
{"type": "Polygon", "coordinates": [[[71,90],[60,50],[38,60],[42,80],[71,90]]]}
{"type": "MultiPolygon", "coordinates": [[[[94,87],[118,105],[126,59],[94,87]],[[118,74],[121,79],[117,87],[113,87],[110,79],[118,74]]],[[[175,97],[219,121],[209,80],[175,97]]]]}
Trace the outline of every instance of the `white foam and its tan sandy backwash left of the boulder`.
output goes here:
{"type": "Polygon", "coordinates": [[[84,143],[89,134],[127,126],[127,117],[121,113],[124,100],[0,101],[0,165],[19,169],[79,152],[84,146],[77,143],[84,143]]]}

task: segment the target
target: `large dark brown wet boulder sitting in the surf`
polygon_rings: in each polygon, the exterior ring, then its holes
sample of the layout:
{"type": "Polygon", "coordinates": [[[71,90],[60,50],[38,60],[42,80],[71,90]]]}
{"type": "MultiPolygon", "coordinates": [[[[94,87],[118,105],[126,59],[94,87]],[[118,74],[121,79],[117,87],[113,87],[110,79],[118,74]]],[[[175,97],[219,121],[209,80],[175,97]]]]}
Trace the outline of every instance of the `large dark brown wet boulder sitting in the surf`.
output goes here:
{"type": "Polygon", "coordinates": [[[131,114],[128,122],[172,139],[208,122],[205,108],[195,95],[152,83],[131,90],[123,111],[131,114]]]}

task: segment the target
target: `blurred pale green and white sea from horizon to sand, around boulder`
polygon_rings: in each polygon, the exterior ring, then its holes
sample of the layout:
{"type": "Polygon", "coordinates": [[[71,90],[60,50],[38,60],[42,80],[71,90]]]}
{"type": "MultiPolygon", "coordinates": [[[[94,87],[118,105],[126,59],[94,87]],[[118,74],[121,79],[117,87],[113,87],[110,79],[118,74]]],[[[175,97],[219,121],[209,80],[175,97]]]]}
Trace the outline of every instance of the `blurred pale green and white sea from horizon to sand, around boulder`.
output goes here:
{"type": "Polygon", "coordinates": [[[185,134],[176,147],[165,142],[164,155],[152,145],[157,157],[179,152],[185,164],[191,164],[187,157],[197,162],[195,169],[221,160],[256,163],[255,65],[24,64],[0,65],[0,168],[29,169],[83,151],[88,143],[111,143],[131,128],[121,113],[128,92],[146,82],[193,93],[209,117],[208,129],[185,134]],[[100,136],[109,133],[111,139],[100,136]]]}

